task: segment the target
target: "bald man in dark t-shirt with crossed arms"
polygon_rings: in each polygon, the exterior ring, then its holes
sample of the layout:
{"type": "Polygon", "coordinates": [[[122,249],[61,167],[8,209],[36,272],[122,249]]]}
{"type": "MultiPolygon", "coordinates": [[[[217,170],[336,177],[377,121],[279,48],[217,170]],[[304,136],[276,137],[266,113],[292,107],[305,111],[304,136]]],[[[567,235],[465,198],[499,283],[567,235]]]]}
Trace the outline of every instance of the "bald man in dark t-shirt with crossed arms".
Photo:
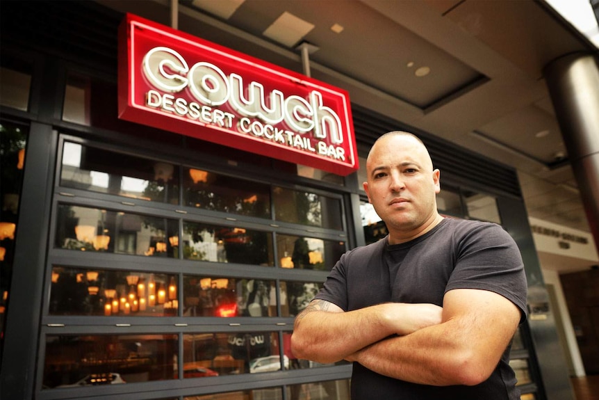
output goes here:
{"type": "Polygon", "coordinates": [[[508,364],[526,317],[514,240],[438,214],[440,173],[412,134],[381,136],[366,170],[388,236],[340,258],[295,320],[295,356],[354,362],[353,400],[520,399],[508,364]]]}

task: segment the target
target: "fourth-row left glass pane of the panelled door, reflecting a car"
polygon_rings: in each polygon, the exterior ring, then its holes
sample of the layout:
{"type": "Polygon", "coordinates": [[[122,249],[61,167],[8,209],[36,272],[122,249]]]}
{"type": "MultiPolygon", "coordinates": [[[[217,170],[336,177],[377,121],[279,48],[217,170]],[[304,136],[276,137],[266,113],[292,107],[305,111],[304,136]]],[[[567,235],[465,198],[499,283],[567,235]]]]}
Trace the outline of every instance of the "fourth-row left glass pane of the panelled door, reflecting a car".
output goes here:
{"type": "Polygon", "coordinates": [[[48,335],[43,386],[172,379],[178,346],[177,335],[48,335]]]}

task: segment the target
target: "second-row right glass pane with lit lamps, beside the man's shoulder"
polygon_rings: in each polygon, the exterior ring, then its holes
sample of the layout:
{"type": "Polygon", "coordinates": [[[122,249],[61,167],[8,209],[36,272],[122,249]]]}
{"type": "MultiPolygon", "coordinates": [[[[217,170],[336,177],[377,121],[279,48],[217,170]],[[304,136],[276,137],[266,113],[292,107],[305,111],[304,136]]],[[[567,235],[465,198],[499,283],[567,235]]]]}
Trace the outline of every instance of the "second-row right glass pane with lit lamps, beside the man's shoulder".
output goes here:
{"type": "Polygon", "coordinates": [[[345,252],[345,242],[277,234],[279,266],[331,271],[345,252]]]}

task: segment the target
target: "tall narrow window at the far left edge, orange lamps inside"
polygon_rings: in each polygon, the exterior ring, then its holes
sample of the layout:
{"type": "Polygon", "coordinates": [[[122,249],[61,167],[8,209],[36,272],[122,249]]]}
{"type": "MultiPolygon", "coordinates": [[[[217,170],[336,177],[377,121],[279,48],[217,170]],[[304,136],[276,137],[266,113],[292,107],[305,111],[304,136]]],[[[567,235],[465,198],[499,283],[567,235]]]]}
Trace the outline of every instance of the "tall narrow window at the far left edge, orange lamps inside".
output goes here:
{"type": "Polygon", "coordinates": [[[27,138],[28,129],[25,127],[6,121],[0,123],[0,353],[13,277],[27,138]]]}

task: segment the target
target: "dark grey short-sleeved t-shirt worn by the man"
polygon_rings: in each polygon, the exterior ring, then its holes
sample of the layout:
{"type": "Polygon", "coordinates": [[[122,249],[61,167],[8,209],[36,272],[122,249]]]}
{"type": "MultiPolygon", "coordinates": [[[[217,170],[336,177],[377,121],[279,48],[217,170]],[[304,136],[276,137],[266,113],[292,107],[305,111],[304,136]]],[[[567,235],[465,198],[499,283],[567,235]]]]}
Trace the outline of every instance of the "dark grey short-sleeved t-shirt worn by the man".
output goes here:
{"type": "MultiPolygon", "coordinates": [[[[389,301],[443,305],[451,289],[484,289],[512,301],[526,316],[526,278],[520,251],[493,223],[445,218],[408,243],[386,239],[345,253],[315,298],[345,311],[389,301]]],[[[489,329],[493,329],[489,326],[489,329]]],[[[517,400],[509,348],[491,377],[476,386],[417,385],[376,374],[354,362],[352,400],[517,400]]]]}

